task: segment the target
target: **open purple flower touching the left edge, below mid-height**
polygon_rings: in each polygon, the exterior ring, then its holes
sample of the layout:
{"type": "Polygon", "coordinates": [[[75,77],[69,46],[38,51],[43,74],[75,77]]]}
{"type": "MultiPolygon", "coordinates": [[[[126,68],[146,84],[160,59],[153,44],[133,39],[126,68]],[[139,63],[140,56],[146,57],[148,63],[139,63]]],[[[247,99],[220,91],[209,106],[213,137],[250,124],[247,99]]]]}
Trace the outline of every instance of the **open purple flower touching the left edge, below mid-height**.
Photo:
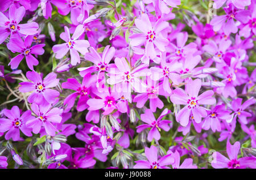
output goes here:
{"type": "Polygon", "coordinates": [[[33,118],[30,110],[27,110],[20,116],[18,106],[13,106],[11,110],[3,110],[3,114],[5,114],[7,118],[0,118],[0,132],[8,131],[5,134],[6,140],[11,138],[13,138],[14,141],[23,140],[20,138],[20,131],[26,136],[32,136],[31,128],[26,125],[26,122],[33,118]]]}

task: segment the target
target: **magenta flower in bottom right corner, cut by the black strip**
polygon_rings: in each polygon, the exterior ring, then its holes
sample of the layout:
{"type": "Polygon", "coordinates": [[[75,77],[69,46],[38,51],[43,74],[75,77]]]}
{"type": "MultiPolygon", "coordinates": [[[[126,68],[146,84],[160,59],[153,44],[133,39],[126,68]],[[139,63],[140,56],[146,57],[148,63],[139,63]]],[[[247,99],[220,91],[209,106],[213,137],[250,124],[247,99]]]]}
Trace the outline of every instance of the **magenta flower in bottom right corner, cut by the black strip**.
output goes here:
{"type": "Polygon", "coordinates": [[[242,157],[237,158],[237,155],[240,151],[240,142],[234,143],[231,145],[228,141],[226,144],[226,152],[228,153],[228,157],[221,155],[219,152],[214,152],[212,157],[213,161],[211,162],[213,168],[221,169],[221,168],[228,168],[228,169],[245,169],[249,168],[256,168],[255,164],[255,157],[242,157]]]}

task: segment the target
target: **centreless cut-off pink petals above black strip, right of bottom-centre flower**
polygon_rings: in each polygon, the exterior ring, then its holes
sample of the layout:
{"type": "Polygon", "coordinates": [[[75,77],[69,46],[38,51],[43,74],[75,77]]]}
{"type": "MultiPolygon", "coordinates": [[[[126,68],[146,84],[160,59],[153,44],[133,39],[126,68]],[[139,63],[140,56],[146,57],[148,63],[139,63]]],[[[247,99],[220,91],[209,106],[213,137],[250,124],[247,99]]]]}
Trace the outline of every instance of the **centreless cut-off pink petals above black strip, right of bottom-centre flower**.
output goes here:
{"type": "Polygon", "coordinates": [[[180,165],[180,154],[175,151],[175,153],[170,152],[172,157],[174,158],[174,164],[172,164],[173,169],[197,169],[196,165],[193,165],[193,159],[192,158],[185,158],[185,160],[180,165]]]}

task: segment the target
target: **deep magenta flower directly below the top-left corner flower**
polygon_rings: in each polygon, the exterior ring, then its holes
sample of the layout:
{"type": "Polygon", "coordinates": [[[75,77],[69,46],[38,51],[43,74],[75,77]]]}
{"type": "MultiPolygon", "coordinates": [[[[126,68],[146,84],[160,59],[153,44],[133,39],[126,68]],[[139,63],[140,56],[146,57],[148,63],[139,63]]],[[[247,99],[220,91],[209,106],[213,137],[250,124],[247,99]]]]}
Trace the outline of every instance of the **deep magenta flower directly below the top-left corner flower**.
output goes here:
{"type": "Polygon", "coordinates": [[[37,44],[31,46],[32,40],[34,36],[26,36],[24,38],[24,42],[20,37],[11,38],[10,42],[7,44],[7,48],[12,52],[20,53],[13,59],[8,66],[11,65],[11,68],[15,69],[19,66],[20,61],[25,57],[27,66],[30,70],[34,70],[33,66],[38,65],[38,59],[36,59],[32,54],[42,55],[44,53],[43,47],[45,44],[37,44]]]}

